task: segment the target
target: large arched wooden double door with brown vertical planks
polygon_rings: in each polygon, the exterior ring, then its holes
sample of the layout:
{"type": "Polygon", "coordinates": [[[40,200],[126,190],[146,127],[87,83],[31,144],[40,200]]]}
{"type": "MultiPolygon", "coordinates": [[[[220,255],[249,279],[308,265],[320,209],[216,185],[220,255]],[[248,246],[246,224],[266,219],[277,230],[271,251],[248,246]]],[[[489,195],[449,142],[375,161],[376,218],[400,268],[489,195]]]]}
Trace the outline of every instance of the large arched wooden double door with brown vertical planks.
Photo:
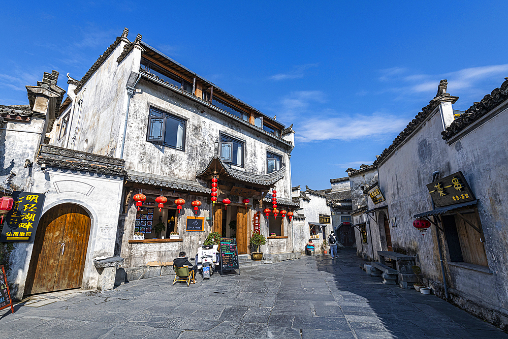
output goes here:
{"type": "Polygon", "coordinates": [[[81,287],[89,236],[90,217],[82,207],[48,210],[37,228],[25,294],[81,287]]]}

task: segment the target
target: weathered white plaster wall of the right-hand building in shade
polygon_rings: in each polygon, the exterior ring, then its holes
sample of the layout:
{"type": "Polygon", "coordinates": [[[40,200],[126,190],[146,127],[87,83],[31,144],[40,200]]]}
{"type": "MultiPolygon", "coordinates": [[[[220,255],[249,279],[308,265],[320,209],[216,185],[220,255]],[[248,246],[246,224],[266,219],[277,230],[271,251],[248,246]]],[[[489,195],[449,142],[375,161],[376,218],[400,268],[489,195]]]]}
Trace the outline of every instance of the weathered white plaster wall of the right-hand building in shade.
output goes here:
{"type": "Polygon", "coordinates": [[[435,227],[422,236],[412,227],[412,216],[432,209],[426,187],[432,181],[432,172],[439,170],[439,177],[463,172],[472,192],[480,199],[478,210],[486,238],[485,250],[495,277],[478,280],[478,275],[484,273],[454,267],[455,278],[449,276],[449,284],[473,300],[503,309],[508,308],[505,265],[508,260],[508,196],[504,193],[508,189],[508,173],[503,170],[508,159],[507,125],[505,110],[447,145],[440,134],[443,122],[440,115],[435,114],[379,166],[380,188],[387,199],[390,216],[397,218],[397,227],[391,228],[394,251],[400,248],[418,253],[424,273],[435,281],[442,281],[435,227]],[[475,290],[484,289],[486,284],[492,293],[478,299],[475,290]]]}

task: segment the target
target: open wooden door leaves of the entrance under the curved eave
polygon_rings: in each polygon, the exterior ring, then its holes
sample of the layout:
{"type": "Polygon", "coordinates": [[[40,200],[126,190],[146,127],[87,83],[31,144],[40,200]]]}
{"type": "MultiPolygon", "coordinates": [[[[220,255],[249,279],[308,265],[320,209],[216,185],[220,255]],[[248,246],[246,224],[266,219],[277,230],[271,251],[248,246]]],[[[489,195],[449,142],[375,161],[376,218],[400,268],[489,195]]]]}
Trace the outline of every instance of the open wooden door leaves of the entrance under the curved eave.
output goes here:
{"type": "MultiPolygon", "coordinates": [[[[248,253],[249,243],[249,211],[250,208],[237,207],[236,211],[236,244],[238,247],[238,254],[248,253]]],[[[223,216],[225,213],[231,213],[231,208],[226,210],[224,206],[215,205],[215,211],[213,215],[213,231],[223,233],[223,216]]],[[[233,215],[230,215],[233,217],[233,215]]],[[[230,218],[233,219],[233,218],[230,218]]]]}

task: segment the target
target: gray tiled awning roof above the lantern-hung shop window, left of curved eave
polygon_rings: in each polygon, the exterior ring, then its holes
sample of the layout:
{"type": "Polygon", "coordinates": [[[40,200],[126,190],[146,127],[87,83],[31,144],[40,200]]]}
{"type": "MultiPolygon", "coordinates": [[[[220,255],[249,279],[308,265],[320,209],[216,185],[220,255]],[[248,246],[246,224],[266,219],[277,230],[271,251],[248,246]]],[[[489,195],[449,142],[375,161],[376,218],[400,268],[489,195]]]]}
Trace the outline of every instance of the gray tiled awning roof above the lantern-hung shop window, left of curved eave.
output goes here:
{"type": "Polygon", "coordinates": [[[143,183],[156,187],[166,187],[172,190],[196,192],[196,193],[210,193],[208,187],[204,187],[197,181],[183,180],[162,175],[155,175],[150,173],[142,173],[128,170],[127,181],[143,183]]]}

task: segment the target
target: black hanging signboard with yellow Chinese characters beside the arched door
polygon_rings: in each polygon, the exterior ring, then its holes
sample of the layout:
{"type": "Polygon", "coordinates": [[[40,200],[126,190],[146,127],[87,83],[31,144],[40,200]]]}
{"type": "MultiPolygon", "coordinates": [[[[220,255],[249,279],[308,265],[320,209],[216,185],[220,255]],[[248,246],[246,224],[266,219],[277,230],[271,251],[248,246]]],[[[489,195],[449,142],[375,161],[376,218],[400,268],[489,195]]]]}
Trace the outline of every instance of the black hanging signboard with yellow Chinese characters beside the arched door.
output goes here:
{"type": "Polygon", "coordinates": [[[45,195],[14,191],[12,198],[14,206],[7,213],[0,241],[34,242],[45,195]]]}

